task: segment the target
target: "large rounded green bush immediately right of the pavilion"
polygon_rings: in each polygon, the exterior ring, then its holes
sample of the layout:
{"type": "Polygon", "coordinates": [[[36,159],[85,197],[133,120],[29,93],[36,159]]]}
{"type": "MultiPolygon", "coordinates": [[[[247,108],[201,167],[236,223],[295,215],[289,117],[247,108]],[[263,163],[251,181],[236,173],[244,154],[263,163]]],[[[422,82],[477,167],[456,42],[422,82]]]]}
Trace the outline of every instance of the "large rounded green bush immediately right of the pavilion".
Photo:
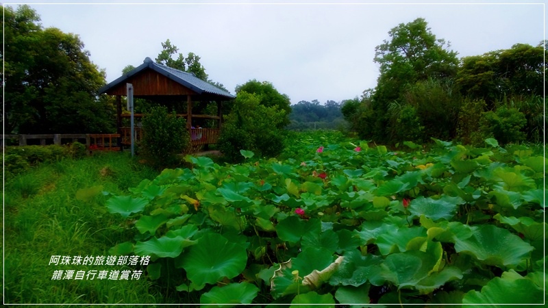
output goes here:
{"type": "Polygon", "coordinates": [[[285,112],[277,107],[262,105],[258,94],[240,92],[233,103],[232,113],[226,116],[219,150],[229,162],[240,162],[240,150],[273,157],[284,149],[284,133],[280,123],[285,112]]]}

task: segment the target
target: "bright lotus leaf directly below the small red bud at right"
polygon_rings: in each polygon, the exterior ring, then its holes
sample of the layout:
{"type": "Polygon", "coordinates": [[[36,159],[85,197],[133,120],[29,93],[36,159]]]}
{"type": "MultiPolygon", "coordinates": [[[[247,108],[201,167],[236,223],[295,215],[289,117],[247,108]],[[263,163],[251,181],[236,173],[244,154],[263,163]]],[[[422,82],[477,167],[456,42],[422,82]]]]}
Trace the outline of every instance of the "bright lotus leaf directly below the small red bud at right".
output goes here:
{"type": "Polygon", "coordinates": [[[423,227],[402,227],[389,228],[388,231],[380,234],[375,241],[382,255],[389,253],[406,251],[408,242],[413,238],[427,236],[426,229],[423,227]]]}

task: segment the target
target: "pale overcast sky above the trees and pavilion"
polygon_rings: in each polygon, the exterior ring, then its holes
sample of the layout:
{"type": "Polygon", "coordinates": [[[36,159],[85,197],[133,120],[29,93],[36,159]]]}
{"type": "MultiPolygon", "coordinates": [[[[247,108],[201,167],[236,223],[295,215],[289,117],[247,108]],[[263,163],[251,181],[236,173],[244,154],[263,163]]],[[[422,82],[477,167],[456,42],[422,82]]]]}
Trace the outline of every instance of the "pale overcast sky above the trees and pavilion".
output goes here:
{"type": "Polygon", "coordinates": [[[373,62],[375,47],[389,39],[390,29],[415,18],[425,18],[436,38],[450,41],[459,57],[509,49],[516,43],[536,46],[545,38],[545,5],[538,0],[450,5],[405,0],[394,4],[39,2],[43,1],[21,3],[38,12],[42,26],[78,34],[92,62],[106,70],[108,82],[120,77],[128,64],[138,66],[145,57],[154,60],[162,50],[160,43],[169,38],[179,53],[199,55],[210,79],[233,94],[238,84],[258,79],[270,81],[292,103],[343,101],[374,88],[379,75],[373,62]]]}

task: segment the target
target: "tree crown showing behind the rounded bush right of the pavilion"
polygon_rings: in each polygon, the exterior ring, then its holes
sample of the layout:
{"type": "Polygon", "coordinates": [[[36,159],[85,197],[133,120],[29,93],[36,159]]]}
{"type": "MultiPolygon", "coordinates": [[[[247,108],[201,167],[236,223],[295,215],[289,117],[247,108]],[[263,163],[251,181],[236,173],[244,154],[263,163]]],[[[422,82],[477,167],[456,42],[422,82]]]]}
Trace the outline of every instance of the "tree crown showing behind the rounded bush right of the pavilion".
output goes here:
{"type": "Polygon", "coordinates": [[[283,110],[285,118],[278,125],[278,128],[286,127],[289,123],[289,114],[291,113],[291,102],[286,94],[281,94],[268,81],[249,80],[247,83],[236,86],[236,94],[247,92],[256,94],[260,104],[265,107],[276,107],[277,110],[283,110]]]}

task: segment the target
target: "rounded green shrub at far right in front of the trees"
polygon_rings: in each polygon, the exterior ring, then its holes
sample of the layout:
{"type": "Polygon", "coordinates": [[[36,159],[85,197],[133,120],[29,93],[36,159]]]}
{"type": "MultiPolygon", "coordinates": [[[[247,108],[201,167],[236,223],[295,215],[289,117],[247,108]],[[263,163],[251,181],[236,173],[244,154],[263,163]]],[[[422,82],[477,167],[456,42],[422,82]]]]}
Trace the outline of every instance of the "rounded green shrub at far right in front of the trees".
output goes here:
{"type": "Polygon", "coordinates": [[[496,112],[483,114],[481,130],[486,136],[493,136],[501,144],[507,144],[525,140],[523,128],[526,124],[525,116],[516,108],[499,107],[496,112]]]}

